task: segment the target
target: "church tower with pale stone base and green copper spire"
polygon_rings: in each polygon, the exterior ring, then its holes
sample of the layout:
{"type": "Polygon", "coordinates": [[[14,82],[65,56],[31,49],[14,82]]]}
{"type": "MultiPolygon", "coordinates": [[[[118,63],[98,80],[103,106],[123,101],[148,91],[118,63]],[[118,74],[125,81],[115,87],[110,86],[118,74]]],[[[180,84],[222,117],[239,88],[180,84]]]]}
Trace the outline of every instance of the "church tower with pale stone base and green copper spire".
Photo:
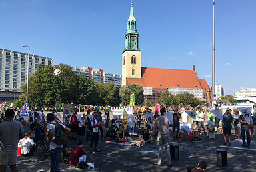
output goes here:
{"type": "Polygon", "coordinates": [[[122,52],[122,86],[127,78],[141,78],[141,49],[139,49],[139,33],[131,3],[130,17],[127,21],[125,49],[122,52]]]}

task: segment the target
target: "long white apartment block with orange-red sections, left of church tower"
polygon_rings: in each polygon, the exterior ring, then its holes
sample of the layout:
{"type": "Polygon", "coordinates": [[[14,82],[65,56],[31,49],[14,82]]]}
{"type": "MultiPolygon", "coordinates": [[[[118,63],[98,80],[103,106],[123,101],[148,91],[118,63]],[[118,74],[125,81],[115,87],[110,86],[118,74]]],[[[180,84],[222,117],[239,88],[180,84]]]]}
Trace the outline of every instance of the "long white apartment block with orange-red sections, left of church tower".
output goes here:
{"type": "Polygon", "coordinates": [[[119,88],[121,87],[122,75],[105,73],[103,69],[93,70],[91,67],[73,67],[73,71],[78,75],[85,75],[88,79],[93,79],[94,82],[115,83],[119,88]]]}

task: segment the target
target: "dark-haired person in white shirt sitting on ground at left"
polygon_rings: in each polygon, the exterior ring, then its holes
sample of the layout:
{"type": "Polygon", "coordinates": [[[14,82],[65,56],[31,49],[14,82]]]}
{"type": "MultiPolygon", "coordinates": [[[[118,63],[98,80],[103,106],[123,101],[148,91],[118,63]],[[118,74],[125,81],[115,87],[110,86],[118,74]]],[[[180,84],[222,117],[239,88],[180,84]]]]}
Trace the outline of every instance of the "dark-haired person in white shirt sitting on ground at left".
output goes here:
{"type": "Polygon", "coordinates": [[[29,132],[27,139],[23,141],[21,147],[21,154],[25,157],[31,157],[35,153],[35,142],[33,138],[35,137],[34,132],[29,132]]]}

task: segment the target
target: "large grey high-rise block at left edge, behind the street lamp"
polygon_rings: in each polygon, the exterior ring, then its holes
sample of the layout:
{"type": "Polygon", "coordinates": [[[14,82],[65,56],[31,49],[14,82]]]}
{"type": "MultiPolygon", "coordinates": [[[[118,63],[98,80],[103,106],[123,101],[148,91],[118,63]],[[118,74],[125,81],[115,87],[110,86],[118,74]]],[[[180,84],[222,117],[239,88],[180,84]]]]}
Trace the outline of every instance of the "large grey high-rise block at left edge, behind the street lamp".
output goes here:
{"type": "Polygon", "coordinates": [[[0,49],[0,102],[19,97],[21,86],[27,81],[27,63],[31,75],[39,64],[53,65],[53,59],[30,54],[28,61],[27,53],[0,49]]]}

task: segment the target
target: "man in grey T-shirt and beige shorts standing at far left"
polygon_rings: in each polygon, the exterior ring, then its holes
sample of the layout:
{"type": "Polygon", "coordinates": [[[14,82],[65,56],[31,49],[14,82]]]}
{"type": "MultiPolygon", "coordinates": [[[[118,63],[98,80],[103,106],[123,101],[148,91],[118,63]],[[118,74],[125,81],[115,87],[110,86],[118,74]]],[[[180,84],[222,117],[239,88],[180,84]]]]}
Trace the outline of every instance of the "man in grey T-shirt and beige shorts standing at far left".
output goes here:
{"type": "Polygon", "coordinates": [[[13,121],[15,113],[13,109],[5,111],[5,121],[0,123],[0,171],[5,172],[9,164],[11,171],[18,171],[17,151],[19,139],[23,137],[24,129],[21,123],[13,121]]]}

